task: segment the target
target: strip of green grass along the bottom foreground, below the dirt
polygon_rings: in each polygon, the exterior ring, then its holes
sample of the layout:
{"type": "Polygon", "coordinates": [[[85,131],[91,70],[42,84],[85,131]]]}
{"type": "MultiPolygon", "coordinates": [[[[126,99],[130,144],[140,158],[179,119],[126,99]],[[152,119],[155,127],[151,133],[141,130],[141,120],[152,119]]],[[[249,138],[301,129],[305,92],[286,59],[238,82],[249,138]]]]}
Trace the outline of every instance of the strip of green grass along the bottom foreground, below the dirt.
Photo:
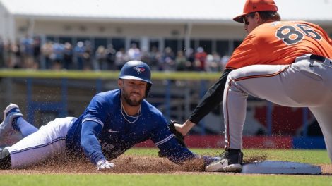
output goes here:
{"type": "Polygon", "coordinates": [[[312,175],[0,175],[0,185],[332,185],[328,176],[312,175]]]}

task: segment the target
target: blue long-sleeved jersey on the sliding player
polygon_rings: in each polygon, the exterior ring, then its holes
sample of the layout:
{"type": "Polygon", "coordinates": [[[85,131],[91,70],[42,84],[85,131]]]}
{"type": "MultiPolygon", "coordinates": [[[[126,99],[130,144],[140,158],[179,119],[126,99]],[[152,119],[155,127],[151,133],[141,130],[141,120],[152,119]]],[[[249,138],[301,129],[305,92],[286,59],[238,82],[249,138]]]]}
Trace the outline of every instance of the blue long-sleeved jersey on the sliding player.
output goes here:
{"type": "Polygon", "coordinates": [[[174,163],[181,163],[196,155],[182,147],[167,127],[162,113],[145,99],[141,103],[141,116],[133,118],[121,109],[120,90],[96,94],[84,113],[73,123],[66,137],[66,148],[80,154],[84,152],[93,163],[115,159],[135,144],[152,140],[162,154],[174,163]]]}

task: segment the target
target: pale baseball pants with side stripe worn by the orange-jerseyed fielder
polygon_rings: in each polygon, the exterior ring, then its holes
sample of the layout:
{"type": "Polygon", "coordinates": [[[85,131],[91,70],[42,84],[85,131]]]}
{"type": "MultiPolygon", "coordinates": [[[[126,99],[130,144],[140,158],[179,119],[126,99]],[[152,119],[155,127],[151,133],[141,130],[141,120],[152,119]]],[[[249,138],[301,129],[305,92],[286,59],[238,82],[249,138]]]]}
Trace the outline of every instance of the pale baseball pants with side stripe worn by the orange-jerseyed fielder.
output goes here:
{"type": "Polygon", "coordinates": [[[242,148],[247,97],[251,94],[282,106],[308,107],[321,127],[332,161],[332,61],[309,56],[297,57],[290,65],[247,66],[228,75],[223,97],[227,148],[242,148]]]}

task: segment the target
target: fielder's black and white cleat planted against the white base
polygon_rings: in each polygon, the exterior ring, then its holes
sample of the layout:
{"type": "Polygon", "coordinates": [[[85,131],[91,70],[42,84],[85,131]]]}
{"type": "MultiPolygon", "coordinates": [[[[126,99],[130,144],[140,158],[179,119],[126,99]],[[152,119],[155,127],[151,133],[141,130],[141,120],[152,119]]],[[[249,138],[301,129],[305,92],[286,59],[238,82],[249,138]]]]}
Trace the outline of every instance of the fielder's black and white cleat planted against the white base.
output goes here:
{"type": "Polygon", "coordinates": [[[214,161],[206,166],[206,172],[235,172],[242,171],[243,153],[238,149],[227,149],[220,154],[220,161],[214,161]]]}

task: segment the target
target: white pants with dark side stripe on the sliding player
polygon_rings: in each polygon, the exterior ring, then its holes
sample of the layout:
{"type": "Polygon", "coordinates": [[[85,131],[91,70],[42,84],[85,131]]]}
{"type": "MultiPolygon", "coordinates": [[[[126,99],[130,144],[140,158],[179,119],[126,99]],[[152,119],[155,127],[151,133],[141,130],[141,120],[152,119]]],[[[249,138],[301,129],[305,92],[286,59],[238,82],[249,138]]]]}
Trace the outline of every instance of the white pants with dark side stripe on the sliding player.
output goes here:
{"type": "Polygon", "coordinates": [[[65,153],[66,135],[73,117],[57,118],[11,147],[11,168],[25,168],[65,153]]]}

